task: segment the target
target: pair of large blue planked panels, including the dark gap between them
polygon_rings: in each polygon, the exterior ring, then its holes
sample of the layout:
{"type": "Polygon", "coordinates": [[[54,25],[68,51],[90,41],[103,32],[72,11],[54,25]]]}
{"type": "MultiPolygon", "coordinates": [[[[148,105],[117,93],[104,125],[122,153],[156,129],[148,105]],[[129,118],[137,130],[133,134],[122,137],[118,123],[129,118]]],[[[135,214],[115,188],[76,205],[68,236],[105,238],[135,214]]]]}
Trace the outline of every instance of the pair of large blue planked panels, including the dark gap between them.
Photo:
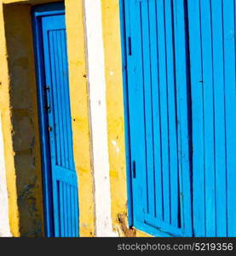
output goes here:
{"type": "Polygon", "coordinates": [[[124,1],[133,223],[155,236],[236,236],[235,6],[124,1]]]}

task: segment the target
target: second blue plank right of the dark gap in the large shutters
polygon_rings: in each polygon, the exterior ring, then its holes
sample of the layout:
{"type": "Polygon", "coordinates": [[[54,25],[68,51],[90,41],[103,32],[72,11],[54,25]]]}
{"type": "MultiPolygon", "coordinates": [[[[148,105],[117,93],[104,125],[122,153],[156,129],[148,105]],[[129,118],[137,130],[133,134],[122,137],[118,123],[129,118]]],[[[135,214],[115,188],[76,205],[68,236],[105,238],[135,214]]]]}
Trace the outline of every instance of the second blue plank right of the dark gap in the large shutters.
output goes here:
{"type": "MultiPolygon", "coordinates": [[[[206,236],[216,236],[215,118],[210,0],[200,2],[204,105],[206,236]]],[[[196,170],[197,171],[197,170],[196,170]]]]}

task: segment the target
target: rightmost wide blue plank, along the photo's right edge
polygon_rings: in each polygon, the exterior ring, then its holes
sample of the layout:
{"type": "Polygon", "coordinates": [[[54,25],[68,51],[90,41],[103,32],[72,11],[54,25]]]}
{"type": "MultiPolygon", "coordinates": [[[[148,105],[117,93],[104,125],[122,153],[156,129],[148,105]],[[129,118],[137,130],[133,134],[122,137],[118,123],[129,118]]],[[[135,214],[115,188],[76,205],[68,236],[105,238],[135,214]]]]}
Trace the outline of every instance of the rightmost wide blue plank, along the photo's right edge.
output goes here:
{"type": "Polygon", "coordinates": [[[235,3],[223,2],[224,70],[227,151],[227,236],[236,236],[236,75],[235,3]]]}

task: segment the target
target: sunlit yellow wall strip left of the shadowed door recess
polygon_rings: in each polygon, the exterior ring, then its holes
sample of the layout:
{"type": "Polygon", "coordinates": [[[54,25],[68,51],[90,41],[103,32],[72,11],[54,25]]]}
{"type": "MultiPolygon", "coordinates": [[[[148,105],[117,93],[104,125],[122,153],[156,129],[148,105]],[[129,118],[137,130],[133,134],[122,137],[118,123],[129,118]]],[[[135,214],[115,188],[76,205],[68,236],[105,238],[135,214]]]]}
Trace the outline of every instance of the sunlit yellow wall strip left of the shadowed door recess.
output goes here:
{"type": "Polygon", "coordinates": [[[17,205],[16,178],[14,172],[14,150],[9,99],[9,68],[3,21],[3,5],[0,4],[0,108],[3,123],[3,143],[9,192],[9,223],[14,236],[19,236],[19,213],[17,205]]]}

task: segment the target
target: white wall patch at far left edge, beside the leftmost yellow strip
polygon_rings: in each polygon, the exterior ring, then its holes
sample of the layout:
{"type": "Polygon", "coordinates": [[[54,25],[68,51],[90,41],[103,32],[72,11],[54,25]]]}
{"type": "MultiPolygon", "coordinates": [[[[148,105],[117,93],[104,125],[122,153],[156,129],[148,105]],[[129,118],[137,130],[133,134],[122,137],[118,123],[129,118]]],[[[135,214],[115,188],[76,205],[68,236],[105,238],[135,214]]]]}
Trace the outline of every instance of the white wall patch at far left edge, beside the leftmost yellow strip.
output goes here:
{"type": "Polygon", "coordinates": [[[9,197],[3,145],[2,115],[0,113],[0,237],[11,236],[9,227],[9,197]]]}

